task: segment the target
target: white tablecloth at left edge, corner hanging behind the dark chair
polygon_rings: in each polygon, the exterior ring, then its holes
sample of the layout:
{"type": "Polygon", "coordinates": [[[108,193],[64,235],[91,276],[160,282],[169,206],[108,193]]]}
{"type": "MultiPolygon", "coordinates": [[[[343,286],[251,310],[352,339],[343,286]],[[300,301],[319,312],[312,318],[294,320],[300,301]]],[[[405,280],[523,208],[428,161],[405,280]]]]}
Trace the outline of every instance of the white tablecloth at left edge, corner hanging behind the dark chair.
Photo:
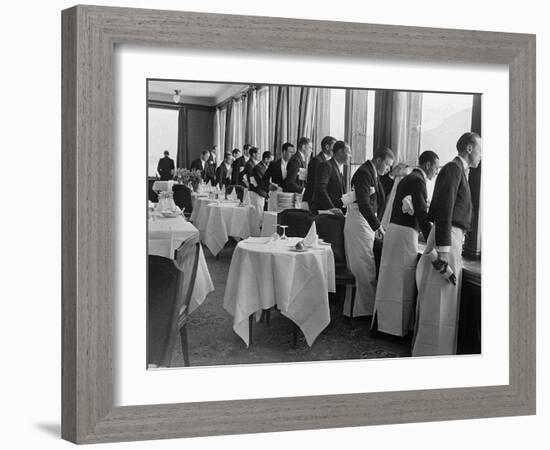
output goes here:
{"type": "MultiPolygon", "coordinates": [[[[148,252],[150,255],[163,256],[173,259],[174,250],[176,250],[183,241],[193,235],[198,235],[199,231],[182,216],[175,218],[156,217],[155,220],[148,221],[148,252]]],[[[184,268],[187,270],[187,268],[184,268]]],[[[189,268],[190,270],[190,268],[189,268]]],[[[197,308],[206,296],[214,290],[214,284],[210,278],[210,272],[204,259],[202,247],[199,253],[199,265],[197,268],[197,278],[195,287],[189,305],[189,313],[197,308]]]]}

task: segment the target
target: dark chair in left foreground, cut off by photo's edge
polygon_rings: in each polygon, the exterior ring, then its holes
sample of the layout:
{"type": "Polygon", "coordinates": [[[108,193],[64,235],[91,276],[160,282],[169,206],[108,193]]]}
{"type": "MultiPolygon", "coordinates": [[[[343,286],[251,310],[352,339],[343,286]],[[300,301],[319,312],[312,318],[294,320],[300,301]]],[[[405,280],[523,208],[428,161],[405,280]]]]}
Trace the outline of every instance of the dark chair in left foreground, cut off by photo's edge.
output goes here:
{"type": "Polygon", "coordinates": [[[147,361],[158,367],[170,366],[178,334],[184,365],[189,366],[186,326],[199,263],[198,236],[174,253],[174,260],[149,255],[147,361]]]}

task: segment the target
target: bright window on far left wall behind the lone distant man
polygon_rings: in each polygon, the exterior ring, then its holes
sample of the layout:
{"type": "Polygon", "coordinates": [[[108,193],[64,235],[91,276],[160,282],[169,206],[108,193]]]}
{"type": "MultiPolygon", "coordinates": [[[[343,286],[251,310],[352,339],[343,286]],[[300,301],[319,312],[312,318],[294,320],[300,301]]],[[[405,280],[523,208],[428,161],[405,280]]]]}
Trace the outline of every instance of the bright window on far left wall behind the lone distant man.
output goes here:
{"type": "Polygon", "coordinates": [[[178,111],[149,108],[148,175],[155,176],[165,150],[176,161],[178,151],[178,111]]]}

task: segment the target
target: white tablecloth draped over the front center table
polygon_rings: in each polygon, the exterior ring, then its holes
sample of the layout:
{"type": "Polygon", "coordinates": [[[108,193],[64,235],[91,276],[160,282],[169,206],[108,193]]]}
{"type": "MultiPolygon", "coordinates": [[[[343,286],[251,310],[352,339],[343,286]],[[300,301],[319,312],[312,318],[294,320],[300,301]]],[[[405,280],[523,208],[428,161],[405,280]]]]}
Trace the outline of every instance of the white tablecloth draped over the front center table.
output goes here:
{"type": "Polygon", "coordinates": [[[332,249],[290,250],[299,240],[250,238],[235,248],[223,306],[247,346],[249,316],[274,305],[300,327],[309,346],[330,323],[328,293],[336,292],[332,249]]]}

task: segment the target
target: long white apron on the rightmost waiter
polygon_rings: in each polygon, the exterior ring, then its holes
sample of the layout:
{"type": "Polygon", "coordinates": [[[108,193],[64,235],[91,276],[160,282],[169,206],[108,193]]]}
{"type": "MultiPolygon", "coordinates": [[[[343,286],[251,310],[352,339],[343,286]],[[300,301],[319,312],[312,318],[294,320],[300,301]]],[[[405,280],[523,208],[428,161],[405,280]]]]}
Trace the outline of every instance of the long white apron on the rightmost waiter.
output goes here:
{"type": "Polygon", "coordinates": [[[464,231],[453,227],[448,263],[457,278],[455,286],[432,266],[429,254],[435,248],[435,226],[432,227],[416,269],[418,297],[412,356],[456,354],[463,242],[464,231]]]}

